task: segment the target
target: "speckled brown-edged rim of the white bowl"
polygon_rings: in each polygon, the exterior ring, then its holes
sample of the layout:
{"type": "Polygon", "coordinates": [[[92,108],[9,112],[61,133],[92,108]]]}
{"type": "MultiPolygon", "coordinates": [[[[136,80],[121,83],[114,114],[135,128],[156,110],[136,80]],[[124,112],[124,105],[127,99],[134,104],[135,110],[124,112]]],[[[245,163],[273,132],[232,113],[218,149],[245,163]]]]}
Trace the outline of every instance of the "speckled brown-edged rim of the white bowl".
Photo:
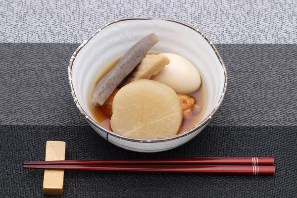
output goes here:
{"type": "Polygon", "coordinates": [[[212,41],[203,33],[201,32],[198,28],[195,28],[192,25],[189,25],[187,23],[184,23],[182,21],[178,21],[175,19],[169,19],[169,18],[161,18],[161,17],[126,17],[126,18],[120,18],[120,19],[115,19],[112,20],[110,22],[107,22],[106,24],[104,24],[103,26],[101,26],[99,29],[97,29],[95,32],[93,32],[72,54],[70,61],[69,61],[69,65],[68,65],[68,83],[70,86],[70,90],[71,90],[71,95],[74,99],[74,102],[77,106],[77,108],[80,110],[80,112],[83,114],[83,116],[85,117],[85,119],[87,119],[87,121],[89,122],[89,124],[93,125],[96,128],[99,128],[101,131],[106,133],[106,140],[108,140],[108,135],[111,135],[113,137],[122,139],[122,140],[127,140],[130,142],[139,142],[139,143],[158,143],[158,142],[167,142],[167,141],[171,141],[171,140],[175,140],[175,139],[179,139],[182,137],[185,137],[187,135],[190,135],[192,133],[194,133],[195,131],[197,131],[198,129],[202,128],[203,126],[205,126],[210,120],[211,118],[216,114],[216,112],[218,111],[219,107],[221,106],[225,95],[226,95],[226,91],[227,91],[227,86],[228,86],[228,74],[227,74],[227,69],[226,66],[218,52],[218,50],[214,47],[212,41]],[[130,137],[126,137],[126,136],[122,136],[119,134],[116,134],[114,132],[111,132],[107,129],[105,129],[104,127],[102,127],[101,125],[99,125],[95,120],[93,120],[85,111],[84,109],[81,107],[76,95],[75,95],[75,91],[73,88],[73,84],[72,84],[72,66],[73,66],[73,62],[77,56],[77,54],[79,53],[79,51],[96,35],[98,34],[100,31],[102,31],[105,27],[114,24],[114,23],[118,23],[121,21],[127,21],[127,20],[165,20],[165,21],[170,21],[170,22],[174,22],[174,23],[178,23],[181,25],[184,25],[188,28],[193,29],[194,31],[196,31],[198,34],[200,34],[206,41],[207,43],[210,45],[210,47],[213,49],[214,53],[216,54],[217,58],[220,61],[220,64],[223,68],[224,71],[224,77],[225,77],[225,82],[224,82],[224,87],[221,93],[221,97],[218,101],[218,103],[216,104],[216,106],[214,107],[214,109],[206,116],[205,119],[203,119],[200,123],[198,123],[198,125],[196,125],[195,127],[193,127],[192,129],[172,136],[172,137],[168,137],[168,138],[158,138],[158,139],[140,139],[140,138],[130,138],[130,137]]]}

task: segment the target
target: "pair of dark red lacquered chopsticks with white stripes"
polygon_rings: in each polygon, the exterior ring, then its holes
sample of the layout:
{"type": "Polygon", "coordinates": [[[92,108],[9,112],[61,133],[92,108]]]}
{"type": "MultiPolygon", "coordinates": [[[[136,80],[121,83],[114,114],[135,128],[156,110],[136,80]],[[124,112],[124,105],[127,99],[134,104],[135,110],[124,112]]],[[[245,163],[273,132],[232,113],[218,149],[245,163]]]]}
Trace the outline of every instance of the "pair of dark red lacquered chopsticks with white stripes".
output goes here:
{"type": "Polygon", "coordinates": [[[29,161],[24,168],[117,172],[273,175],[272,157],[204,157],[29,161]]]}

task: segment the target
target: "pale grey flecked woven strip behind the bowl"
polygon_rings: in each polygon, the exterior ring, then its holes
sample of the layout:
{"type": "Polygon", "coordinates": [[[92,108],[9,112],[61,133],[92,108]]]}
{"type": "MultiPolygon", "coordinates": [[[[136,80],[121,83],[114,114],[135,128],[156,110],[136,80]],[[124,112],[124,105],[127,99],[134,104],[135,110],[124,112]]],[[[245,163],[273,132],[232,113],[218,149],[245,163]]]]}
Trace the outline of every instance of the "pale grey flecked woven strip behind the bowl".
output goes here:
{"type": "Polygon", "coordinates": [[[81,43],[108,21],[181,20],[214,43],[297,44],[296,0],[0,0],[0,42],[81,43]]]}

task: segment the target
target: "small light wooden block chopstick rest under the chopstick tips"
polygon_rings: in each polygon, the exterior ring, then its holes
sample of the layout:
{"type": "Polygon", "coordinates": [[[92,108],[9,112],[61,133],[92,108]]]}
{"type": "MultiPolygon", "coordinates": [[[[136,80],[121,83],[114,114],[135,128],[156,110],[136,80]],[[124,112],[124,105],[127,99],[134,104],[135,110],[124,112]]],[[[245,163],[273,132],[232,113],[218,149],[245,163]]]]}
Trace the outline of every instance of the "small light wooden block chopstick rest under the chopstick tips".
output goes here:
{"type": "MultiPolygon", "coordinates": [[[[47,141],[46,161],[65,160],[66,143],[47,141]]],[[[43,193],[45,195],[62,195],[64,170],[45,170],[43,193]]]]}

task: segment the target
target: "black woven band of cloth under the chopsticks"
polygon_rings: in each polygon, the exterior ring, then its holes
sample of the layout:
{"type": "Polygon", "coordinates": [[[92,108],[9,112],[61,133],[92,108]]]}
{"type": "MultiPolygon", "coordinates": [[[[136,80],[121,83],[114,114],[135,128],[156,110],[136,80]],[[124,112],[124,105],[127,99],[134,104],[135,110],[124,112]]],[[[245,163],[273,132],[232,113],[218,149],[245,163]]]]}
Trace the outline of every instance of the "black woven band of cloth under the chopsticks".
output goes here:
{"type": "Polygon", "coordinates": [[[48,140],[66,142],[66,159],[273,156],[274,176],[65,171],[61,197],[290,197],[297,195],[297,127],[206,127],[189,143],[165,152],[118,148],[91,127],[0,126],[0,197],[42,197],[43,170],[22,162],[44,160],[48,140]]]}

